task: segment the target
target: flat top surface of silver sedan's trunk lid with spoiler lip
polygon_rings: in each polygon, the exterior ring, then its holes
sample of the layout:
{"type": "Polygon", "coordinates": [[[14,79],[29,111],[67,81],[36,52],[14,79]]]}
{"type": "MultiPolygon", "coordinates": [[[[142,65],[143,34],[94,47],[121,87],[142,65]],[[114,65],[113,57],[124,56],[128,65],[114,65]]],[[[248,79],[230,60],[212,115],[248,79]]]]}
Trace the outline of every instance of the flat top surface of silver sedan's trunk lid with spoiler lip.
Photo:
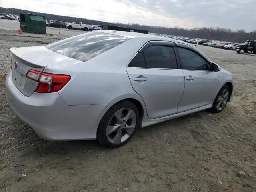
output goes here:
{"type": "Polygon", "coordinates": [[[82,62],[53,52],[44,46],[11,48],[11,52],[31,65],[40,67],[69,65],[82,62]]]}

